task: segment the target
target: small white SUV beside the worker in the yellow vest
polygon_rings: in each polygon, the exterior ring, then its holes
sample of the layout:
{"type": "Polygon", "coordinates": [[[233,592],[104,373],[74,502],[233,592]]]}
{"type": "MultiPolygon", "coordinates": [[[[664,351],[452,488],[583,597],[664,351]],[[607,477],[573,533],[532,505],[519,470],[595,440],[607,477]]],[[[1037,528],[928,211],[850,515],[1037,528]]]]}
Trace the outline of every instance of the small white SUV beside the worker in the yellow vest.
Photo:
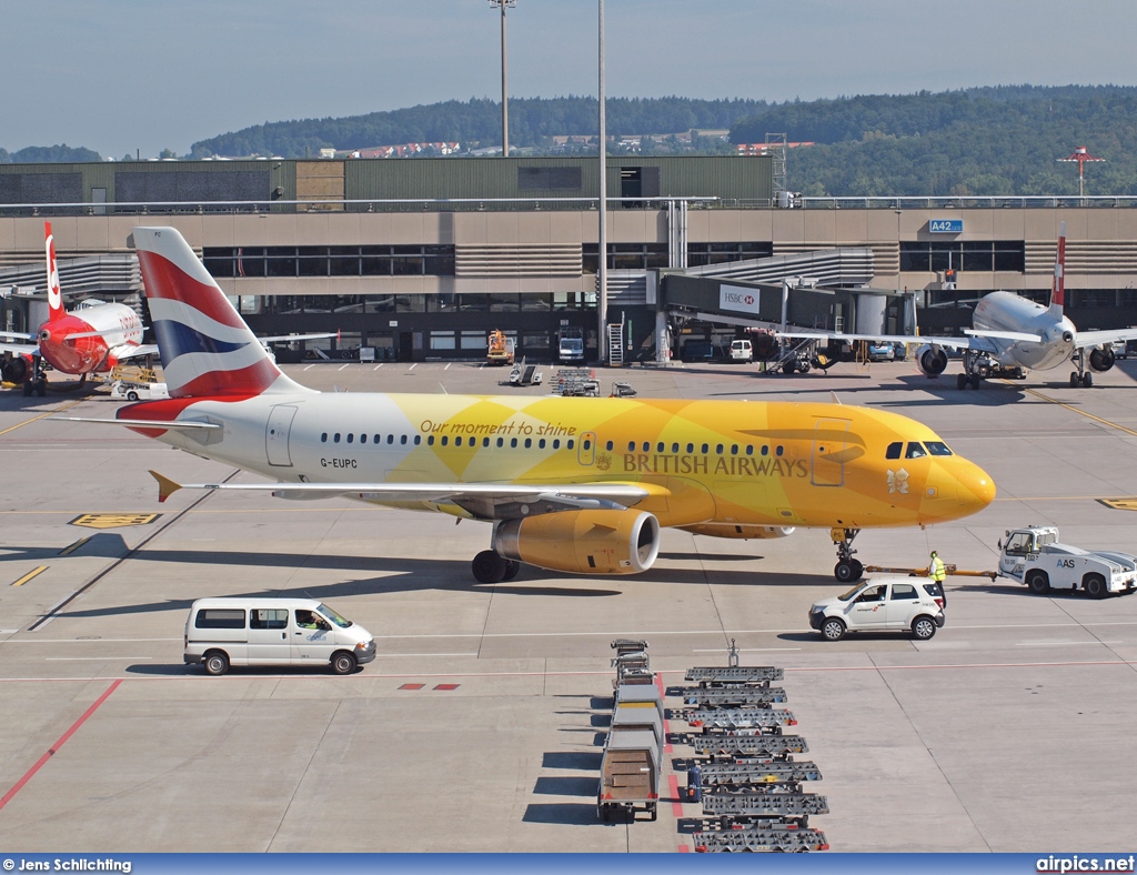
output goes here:
{"type": "Polygon", "coordinates": [[[903,630],[927,641],[943,628],[944,609],[922,577],[872,577],[848,592],[810,608],[810,625],[827,641],[840,641],[846,630],[903,630]]]}

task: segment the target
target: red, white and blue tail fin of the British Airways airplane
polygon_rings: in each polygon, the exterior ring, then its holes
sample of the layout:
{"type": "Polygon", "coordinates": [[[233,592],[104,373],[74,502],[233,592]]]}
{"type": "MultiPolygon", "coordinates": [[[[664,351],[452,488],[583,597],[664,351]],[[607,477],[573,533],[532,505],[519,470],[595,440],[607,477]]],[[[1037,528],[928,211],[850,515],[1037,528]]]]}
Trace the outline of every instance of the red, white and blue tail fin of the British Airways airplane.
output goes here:
{"type": "Polygon", "coordinates": [[[172,398],[308,391],[280,372],[176,228],[132,236],[172,398]]]}

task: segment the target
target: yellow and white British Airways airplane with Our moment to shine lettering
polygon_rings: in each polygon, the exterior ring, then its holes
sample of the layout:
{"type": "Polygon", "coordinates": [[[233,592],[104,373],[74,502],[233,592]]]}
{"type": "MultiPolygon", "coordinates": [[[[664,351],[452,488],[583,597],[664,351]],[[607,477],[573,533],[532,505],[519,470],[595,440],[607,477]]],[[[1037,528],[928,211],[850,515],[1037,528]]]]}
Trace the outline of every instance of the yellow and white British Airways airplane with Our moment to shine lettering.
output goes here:
{"type": "MultiPolygon", "coordinates": [[[[282,374],[181,234],[133,232],[168,400],[116,422],[275,483],[186,484],[347,497],[491,524],[483,583],[521,562],[589,575],[652,567],[662,526],[716,538],[857,532],[987,507],[991,478],[918,422],[828,403],[321,393],[282,374]]],[[[92,422],[92,420],[86,420],[92,422]]],[[[152,473],[152,472],[151,472],[152,473]]],[[[155,474],[159,498],[183,486],[155,474]]]]}

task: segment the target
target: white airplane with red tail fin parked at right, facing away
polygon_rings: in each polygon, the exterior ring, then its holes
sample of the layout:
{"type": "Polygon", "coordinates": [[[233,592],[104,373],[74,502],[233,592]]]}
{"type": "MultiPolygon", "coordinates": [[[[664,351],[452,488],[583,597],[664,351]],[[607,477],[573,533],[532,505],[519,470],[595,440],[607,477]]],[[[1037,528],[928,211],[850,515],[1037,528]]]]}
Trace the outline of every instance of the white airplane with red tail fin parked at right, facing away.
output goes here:
{"type": "Polygon", "coordinates": [[[824,332],[787,332],[789,338],[827,338],[830,340],[880,340],[893,343],[921,343],[916,365],[931,377],[947,368],[947,352],[963,352],[963,373],[956,382],[960,389],[979,389],[985,377],[1021,378],[1027,370],[1049,370],[1067,361],[1077,370],[1070,374],[1070,385],[1092,386],[1094,370],[1113,367],[1114,343],[1137,340],[1137,328],[1112,331],[1078,331],[1063,312],[1065,305],[1065,223],[1061,225],[1059,251],[1054,260],[1054,284],[1049,307],[1021,298],[1013,292],[991,292],[976,305],[970,330],[963,338],[919,335],[835,334],[824,332]],[[1088,369],[1087,369],[1088,365],[1088,369]]]}

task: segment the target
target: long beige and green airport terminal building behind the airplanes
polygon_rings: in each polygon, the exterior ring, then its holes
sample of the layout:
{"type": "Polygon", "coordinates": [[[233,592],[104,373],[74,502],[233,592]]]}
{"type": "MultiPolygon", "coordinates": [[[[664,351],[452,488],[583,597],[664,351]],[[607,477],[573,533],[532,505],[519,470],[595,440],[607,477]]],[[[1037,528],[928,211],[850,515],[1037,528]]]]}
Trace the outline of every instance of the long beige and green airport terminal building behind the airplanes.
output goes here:
{"type": "MultiPolygon", "coordinates": [[[[589,359],[615,356],[597,324],[598,170],[596,158],[0,165],[3,326],[42,318],[44,220],[65,294],[124,300],[141,291],[131,228],[168,224],[255,332],[339,332],[307,343],[332,357],[476,359],[496,328],[533,360],[565,331],[583,333],[589,359]]],[[[607,159],[621,355],[661,339],[679,355],[706,322],[777,322],[783,288],[798,325],[904,331],[907,290],[922,333],[957,333],[988,291],[1046,300],[1061,222],[1074,324],[1137,324],[1137,199],[800,199],[778,183],[770,155],[607,159]],[[753,306],[728,290],[752,290],[753,306]]]]}

